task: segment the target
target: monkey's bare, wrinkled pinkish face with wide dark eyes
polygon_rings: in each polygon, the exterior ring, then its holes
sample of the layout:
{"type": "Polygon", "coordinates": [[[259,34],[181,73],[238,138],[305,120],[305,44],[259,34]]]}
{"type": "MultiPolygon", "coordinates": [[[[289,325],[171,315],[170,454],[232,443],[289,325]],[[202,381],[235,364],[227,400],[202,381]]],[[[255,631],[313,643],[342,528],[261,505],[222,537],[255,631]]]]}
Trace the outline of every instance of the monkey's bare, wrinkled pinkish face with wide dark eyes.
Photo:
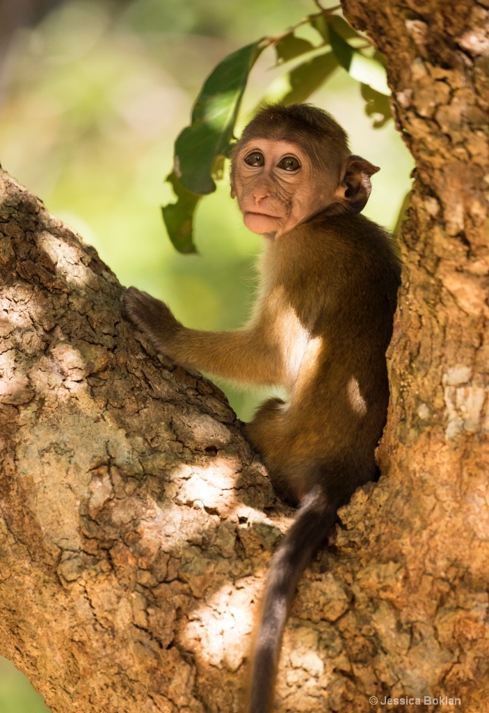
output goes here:
{"type": "Polygon", "coordinates": [[[300,146],[253,138],[233,156],[231,196],[249,230],[277,238],[329,205],[337,180],[313,169],[300,146]]]}

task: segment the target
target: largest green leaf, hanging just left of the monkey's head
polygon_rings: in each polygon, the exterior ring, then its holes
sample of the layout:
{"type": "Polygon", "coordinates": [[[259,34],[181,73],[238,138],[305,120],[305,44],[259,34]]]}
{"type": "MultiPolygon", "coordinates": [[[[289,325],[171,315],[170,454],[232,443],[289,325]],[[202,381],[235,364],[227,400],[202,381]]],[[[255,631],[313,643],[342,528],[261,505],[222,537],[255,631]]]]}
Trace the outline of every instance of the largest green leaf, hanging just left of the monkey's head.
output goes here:
{"type": "Polygon", "coordinates": [[[174,171],[191,193],[216,190],[216,157],[229,153],[248,74],[263,50],[261,40],[231,53],[211,72],[196,99],[191,125],[175,142],[174,171]]]}

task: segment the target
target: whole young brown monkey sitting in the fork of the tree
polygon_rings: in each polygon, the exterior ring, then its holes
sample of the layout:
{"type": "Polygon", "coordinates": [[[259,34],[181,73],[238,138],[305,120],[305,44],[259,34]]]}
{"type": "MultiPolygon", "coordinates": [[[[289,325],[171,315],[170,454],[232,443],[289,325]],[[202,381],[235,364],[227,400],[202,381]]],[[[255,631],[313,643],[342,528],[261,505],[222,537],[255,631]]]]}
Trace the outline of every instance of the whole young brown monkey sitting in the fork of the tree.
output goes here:
{"type": "Polygon", "coordinates": [[[350,155],[347,134],[309,105],[264,108],[231,154],[231,196],[265,237],[250,322],[199,332],[135,287],[128,317],[178,364],[247,384],[278,384],[248,436],[280,496],[299,504],[273,556],[253,652],[249,713],[268,713],[295,588],[358,486],[377,477],[374,448],[389,385],[385,352],[400,267],[391,238],[359,215],[379,170],[350,155]]]}

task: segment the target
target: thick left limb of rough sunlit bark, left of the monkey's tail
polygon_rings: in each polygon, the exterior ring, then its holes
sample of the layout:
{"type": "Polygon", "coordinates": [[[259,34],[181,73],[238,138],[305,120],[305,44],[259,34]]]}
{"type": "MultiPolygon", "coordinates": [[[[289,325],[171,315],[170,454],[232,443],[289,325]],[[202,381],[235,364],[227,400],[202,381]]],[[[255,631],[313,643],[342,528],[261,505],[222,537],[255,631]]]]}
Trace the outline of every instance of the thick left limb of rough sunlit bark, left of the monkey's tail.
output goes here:
{"type": "Polygon", "coordinates": [[[263,468],[95,250],[5,173],[0,196],[0,652],[53,712],[236,709],[280,534],[263,468]]]}

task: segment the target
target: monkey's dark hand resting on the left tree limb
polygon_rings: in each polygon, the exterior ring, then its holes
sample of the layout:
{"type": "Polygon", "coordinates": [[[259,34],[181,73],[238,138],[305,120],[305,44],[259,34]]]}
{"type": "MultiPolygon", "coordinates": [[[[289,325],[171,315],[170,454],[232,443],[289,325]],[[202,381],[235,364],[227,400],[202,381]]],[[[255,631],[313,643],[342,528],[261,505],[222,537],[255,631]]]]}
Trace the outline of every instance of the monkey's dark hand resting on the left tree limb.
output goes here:
{"type": "Polygon", "coordinates": [[[158,352],[172,356],[172,344],[182,329],[169,307],[136,287],[126,290],[122,298],[126,316],[146,334],[158,352]]]}

